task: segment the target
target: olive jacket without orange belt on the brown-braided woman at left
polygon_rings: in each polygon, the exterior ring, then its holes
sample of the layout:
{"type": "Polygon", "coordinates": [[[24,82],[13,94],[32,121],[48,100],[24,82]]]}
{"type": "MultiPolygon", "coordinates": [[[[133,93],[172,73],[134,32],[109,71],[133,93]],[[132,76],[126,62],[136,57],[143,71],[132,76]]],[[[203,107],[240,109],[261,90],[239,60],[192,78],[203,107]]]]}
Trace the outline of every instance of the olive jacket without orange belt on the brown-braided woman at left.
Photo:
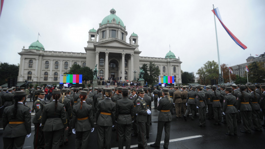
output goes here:
{"type": "Polygon", "coordinates": [[[56,131],[66,128],[67,119],[64,104],[57,102],[56,111],[55,101],[46,104],[42,111],[41,125],[43,131],[56,131]]]}

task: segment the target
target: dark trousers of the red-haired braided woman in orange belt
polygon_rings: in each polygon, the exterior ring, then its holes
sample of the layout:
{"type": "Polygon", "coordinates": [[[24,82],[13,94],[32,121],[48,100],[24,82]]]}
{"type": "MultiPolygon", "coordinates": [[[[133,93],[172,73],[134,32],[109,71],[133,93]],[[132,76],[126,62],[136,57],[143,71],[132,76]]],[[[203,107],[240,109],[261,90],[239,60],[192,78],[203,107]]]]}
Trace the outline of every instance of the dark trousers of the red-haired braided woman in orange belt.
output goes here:
{"type": "Polygon", "coordinates": [[[88,148],[88,144],[89,144],[88,137],[89,137],[90,132],[91,130],[76,131],[75,149],[87,149],[88,148]]]}

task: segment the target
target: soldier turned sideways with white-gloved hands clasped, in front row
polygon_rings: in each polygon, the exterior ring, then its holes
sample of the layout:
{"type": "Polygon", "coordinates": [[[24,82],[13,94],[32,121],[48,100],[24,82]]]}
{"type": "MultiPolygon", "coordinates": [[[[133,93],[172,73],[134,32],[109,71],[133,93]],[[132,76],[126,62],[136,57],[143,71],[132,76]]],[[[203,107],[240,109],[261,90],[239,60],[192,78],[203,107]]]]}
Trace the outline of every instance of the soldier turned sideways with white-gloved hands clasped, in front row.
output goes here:
{"type": "Polygon", "coordinates": [[[151,114],[151,111],[147,109],[147,104],[144,101],[144,89],[137,90],[139,96],[136,100],[136,115],[138,124],[138,148],[148,148],[146,140],[146,123],[148,121],[147,116],[151,114]]]}

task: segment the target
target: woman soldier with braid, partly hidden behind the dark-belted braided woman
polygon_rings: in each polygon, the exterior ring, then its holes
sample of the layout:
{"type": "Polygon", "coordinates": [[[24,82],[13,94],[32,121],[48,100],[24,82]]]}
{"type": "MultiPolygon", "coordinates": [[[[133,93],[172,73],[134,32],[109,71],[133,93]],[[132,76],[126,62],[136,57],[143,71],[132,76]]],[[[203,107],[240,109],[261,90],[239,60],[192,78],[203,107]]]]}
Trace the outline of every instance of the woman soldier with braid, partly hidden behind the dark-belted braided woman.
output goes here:
{"type": "MultiPolygon", "coordinates": [[[[64,104],[65,111],[66,111],[66,119],[69,122],[69,119],[72,119],[72,107],[71,107],[71,100],[66,97],[68,93],[68,89],[62,89],[61,92],[62,92],[61,97],[58,99],[58,102],[64,104]]],[[[69,127],[69,123],[67,124],[69,127]]],[[[68,143],[68,130],[62,132],[60,146],[63,145],[63,140],[64,140],[64,145],[68,143]]]]}

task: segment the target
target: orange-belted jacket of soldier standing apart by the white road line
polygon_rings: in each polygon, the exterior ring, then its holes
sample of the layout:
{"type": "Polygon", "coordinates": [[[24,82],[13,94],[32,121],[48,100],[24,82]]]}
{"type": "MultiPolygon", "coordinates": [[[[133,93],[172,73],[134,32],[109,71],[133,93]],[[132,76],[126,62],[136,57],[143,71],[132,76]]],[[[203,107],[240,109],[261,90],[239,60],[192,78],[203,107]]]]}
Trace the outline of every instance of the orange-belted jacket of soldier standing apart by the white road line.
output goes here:
{"type": "Polygon", "coordinates": [[[163,112],[163,110],[170,110],[173,106],[173,99],[168,100],[168,96],[164,96],[159,100],[157,110],[160,111],[158,115],[158,121],[172,121],[172,114],[170,111],[163,112]],[[162,110],[162,111],[161,111],[162,110]]]}

